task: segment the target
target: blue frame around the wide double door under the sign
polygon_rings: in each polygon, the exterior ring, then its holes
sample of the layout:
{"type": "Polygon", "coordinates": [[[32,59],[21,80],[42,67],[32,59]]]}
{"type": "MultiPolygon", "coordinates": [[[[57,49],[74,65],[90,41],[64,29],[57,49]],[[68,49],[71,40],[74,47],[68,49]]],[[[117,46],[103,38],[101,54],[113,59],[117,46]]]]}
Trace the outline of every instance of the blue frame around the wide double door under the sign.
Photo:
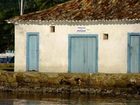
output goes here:
{"type": "Polygon", "coordinates": [[[96,38],[96,70],[98,72],[98,34],[69,34],[68,35],[68,72],[71,72],[71,38],[96,38]]]}

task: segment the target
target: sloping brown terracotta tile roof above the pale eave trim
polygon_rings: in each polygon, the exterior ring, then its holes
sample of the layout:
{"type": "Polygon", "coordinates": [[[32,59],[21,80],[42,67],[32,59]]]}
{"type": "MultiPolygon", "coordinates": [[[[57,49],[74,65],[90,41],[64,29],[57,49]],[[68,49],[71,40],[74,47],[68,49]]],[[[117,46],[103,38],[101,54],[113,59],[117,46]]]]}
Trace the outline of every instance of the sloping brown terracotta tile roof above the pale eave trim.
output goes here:
{"type": "Polygon", "coordinates": [[[88,19],[140,19],[140,0],[71,0],[12,20],[88,19]]]}

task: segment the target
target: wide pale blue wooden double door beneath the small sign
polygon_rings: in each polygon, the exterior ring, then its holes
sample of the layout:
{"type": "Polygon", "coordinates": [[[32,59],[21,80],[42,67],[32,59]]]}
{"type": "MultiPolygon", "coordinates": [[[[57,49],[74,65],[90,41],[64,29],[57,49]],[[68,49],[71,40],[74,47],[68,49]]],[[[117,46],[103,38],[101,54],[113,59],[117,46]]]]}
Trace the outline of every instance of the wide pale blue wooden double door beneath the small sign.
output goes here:
{"type": "Polygon", "coordinates": [[[97,71],[97,37],[69,37],[69,71],[95,73],[97,71]]]}

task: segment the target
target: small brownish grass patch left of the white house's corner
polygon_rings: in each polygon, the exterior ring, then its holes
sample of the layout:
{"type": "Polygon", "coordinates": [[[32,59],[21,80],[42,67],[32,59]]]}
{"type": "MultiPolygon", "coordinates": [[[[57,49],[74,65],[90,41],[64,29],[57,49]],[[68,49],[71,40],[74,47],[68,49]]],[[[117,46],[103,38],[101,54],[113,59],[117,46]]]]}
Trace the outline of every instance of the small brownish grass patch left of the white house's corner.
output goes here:
{"type": "Polygon", "coordinates": [[[14,63],[0,63],[0,71],[14,71],[14,63]]]}

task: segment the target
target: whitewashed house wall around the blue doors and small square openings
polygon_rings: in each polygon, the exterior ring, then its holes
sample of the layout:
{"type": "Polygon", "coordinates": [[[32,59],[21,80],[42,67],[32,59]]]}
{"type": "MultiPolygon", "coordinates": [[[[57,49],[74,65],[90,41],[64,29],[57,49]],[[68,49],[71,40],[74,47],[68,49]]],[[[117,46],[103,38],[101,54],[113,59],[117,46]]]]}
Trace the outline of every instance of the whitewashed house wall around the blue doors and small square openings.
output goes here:
{"type": "Polygon", "coordinates": [[[40,72],[68,71],[69,34],[98,34],[98,72],[126,73],[128,32],[140,32],[140,24],[55,25],[55,33],[49,26],[15,25],[15,71],[26,71],[26,32],[39,32],[40,72]],[[104,33],[108,40],[103,40],[104,33]]]}

